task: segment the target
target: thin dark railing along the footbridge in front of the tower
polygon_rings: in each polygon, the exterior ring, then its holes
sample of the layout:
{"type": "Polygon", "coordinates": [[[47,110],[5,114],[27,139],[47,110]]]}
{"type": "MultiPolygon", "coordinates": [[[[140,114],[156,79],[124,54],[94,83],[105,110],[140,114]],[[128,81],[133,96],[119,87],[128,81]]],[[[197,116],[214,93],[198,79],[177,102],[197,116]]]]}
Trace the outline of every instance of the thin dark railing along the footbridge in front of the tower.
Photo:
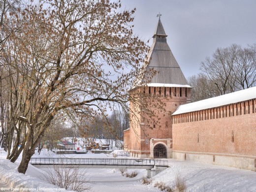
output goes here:
{"type": "Polygon", "coordinates": [[[31,164],[168,166],[167,160],[117,158],[31,158],[31,164]]]}

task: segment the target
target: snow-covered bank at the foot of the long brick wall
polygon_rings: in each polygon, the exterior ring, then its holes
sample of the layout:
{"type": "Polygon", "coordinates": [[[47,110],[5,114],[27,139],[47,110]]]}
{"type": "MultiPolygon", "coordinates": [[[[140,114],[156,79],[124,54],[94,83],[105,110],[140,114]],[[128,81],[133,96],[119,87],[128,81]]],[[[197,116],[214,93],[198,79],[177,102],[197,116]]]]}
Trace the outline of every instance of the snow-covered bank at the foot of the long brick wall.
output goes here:
{"type": "Polygon", "coordinates": [[[256,172],[183,160],[168,160],[169,168],[154,177],[174,185],[175,177],[184,177],[189,192],[256,192],[256,172]]]}

